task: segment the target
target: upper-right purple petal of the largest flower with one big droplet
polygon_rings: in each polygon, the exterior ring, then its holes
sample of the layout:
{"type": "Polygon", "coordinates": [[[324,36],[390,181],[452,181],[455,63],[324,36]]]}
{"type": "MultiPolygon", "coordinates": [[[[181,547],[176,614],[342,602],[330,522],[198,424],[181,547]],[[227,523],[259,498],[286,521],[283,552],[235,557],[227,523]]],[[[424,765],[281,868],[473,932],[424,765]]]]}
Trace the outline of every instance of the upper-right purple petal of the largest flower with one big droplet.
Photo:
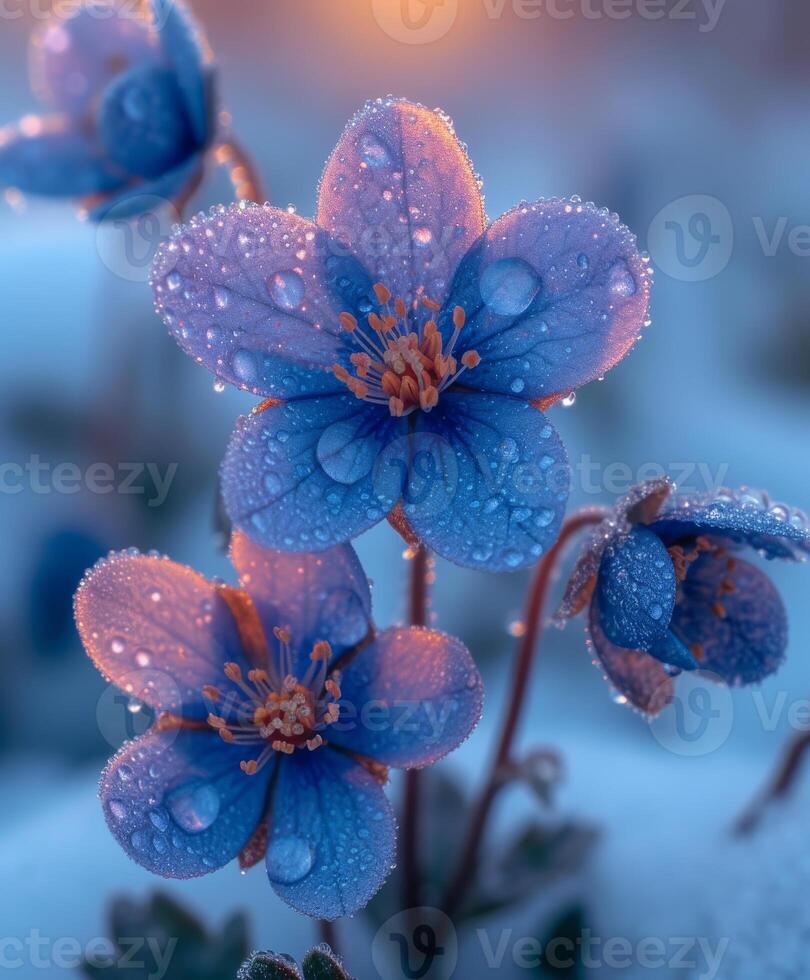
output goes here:
{"type": "Polygon", "coordinates": [[[601,377],[647,318],[650,272],[635,237],[593,205],[549,200],[499,218],[456,273],[441,326],[467,313],[465,385],[549,398],[601,377]]]}

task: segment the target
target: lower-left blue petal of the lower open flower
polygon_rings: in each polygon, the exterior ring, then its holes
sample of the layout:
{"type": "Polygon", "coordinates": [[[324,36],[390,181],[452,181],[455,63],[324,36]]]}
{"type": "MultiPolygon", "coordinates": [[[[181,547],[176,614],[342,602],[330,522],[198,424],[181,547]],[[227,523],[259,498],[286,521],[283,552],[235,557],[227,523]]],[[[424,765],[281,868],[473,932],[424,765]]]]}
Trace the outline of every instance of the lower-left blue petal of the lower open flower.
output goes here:
{"type": "Polygon", "coordinates": [[[246,776],[244,753],[213,731],[152,731],[127,742],[101,777],[101,805],[118,843],[165,878],[227,864],[262,818],[272,772],[246,776]]]}

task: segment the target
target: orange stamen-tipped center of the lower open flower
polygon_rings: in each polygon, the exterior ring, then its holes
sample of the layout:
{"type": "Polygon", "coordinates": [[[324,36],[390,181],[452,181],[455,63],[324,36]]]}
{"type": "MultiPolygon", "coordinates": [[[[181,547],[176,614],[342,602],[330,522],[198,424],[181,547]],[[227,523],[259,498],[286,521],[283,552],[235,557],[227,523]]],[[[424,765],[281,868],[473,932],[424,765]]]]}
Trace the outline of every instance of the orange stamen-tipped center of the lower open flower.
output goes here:
{"type": "Polygon", "coordinates": [[[205,697],[216,705],[208,724],[229,744],[259,748],[255,758],[239,763],[248,776],[257,773],[275,752],[291,755],[306,747],[310,752],[324,744],[320,734],[340,716],[340,673],[329,671],[332,648],[319,640],[312,648],[312,661],[300,680],[292,673],[290,634],[276,627],[280,670],[249,670],[245,677],[238,664],[225,664],[225,676],[232,687],[203,688],[205,697]]]}

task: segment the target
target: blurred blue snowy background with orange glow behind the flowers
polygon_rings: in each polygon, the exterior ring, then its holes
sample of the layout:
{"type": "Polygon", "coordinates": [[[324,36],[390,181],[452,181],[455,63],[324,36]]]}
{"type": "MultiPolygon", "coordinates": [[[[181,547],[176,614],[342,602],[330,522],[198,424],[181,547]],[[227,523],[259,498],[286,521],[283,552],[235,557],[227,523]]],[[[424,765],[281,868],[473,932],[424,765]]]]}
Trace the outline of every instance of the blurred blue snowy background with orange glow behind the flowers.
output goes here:
{"type": "MultiPolygon", "coordinates": [[[[603,383],[553,409],[576,471],[572,507],[608,503],[662,471],[686,489],[750,484],[810,506],[804,0],[413,0],[410,8],[193,0],[193,8],[216,52],[233,129],[274,204],[311,215],[350,115],[394,93],[452,116],[490,217],[522,198],[578,194],[619,212],[638,234],[657,270],[653,324],[603,383]]],[[[0,10],[0,122],[37,108],[27,40],[46,9],[7,0],[0,10]]],[[[212,173],[193,205],[231,195],[225,176],[212,173]]],[[[108,934],[111,897],[142,898],[155,886],[119,851],[96,800],[105,759],[148,719],[116,700],[82,651],[71,606],[82,572],[110,548],[132,545],[230,574],[217,466],[253,399],[215,392],[176,348],[145,282],[153,243],[136,240],[127,251],[123,236],[79,222],[68,203],[0,200],[0,462],[40,474],[10,486],[6,470],[0,488],[0,938],[39,930],[50,942],[86,944],[108,934]],[[130,491],[55,487],[58,465],[86,473],[97,463],[122,476],[137,471],[130,491]]],[[[400,619],[402,543],[380,526],[358,550],[377,620],[400,619]]],[[[778,676],[761,689],[718,690],[709,710],[684,697],[652,726],[613,702],[581,623],[546,633],[521,742],[562,759],[549,819],[593,828],[598,840],[576,874],[549,880],[523,903],[527,924],[507,914],[518,930],[511,941],[539,936],[549,916],[575,908],[603,938],[720,935],[729,948],[748,942],[764,955],[760,905],[770,886],[758,875],[779,865],[781,884],[800,896],[810,858],[810,836],[798,830],[789,853],[781,831],[759,840],[757,861],[745,850],[753,843],[729,836],[786,740],[807,724],[810,579],[803,568],[770,572],[791,622],[778,676]]],[[[443,562],[436,577],[436,623],[469,644],[487,682],[484,722],[444,764],[472,793],[498,732],[528,577],[443,562]]],[[[780,817],[795,811],[797,827],[801,793],[780,817]]],[[[537,809],[528,791],[505,794],[495,841],[537,809]]],[[[167,887],[212,926],[246,911],[253,945],[300,955],[315,940],[261,869],[240,878],[229,867],[167,887]]],[[[803,949],[810,938],[797,903],[785,902],[774,928],[803,949]]],[[[342,924],[361,977],[378,975],[375,928],[342,924]]],[[[492,974],[480,943],[462,937],[461,946],[459,975],[492,974]]],[[[691,973],[671,961],[659,972],[749,975],[728,965],[706,972],[695,956],[691,973]]],[[[755,961],[750,975],[807,976],[793,965],[801,956],[785,957],[783,972],[763,960],[768,966],[755,961]]],[[[616,972],[634,976],[636,967],[616,972]]],[[[611,975],[610,964],[600,969],[611,975]]],[[[511,953],[501,974],[509,970],[538,975],[511,953]]],[[[35,975],[70,972],[50,960],[35,975]]]]}

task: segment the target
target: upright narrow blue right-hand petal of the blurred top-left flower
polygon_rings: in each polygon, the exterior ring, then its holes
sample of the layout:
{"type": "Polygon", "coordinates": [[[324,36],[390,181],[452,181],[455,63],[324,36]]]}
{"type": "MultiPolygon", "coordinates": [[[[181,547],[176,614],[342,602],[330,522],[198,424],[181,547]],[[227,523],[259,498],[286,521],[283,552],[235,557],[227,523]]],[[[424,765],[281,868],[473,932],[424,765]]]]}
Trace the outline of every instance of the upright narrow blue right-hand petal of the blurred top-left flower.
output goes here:
{"type": "Polygon", "coordinates": [[[208,42],[183,0],[151,0],[151,6],[160,46],[177,76],[194,135],[198,145],[205,146],[212,125],[208,42]]]}

